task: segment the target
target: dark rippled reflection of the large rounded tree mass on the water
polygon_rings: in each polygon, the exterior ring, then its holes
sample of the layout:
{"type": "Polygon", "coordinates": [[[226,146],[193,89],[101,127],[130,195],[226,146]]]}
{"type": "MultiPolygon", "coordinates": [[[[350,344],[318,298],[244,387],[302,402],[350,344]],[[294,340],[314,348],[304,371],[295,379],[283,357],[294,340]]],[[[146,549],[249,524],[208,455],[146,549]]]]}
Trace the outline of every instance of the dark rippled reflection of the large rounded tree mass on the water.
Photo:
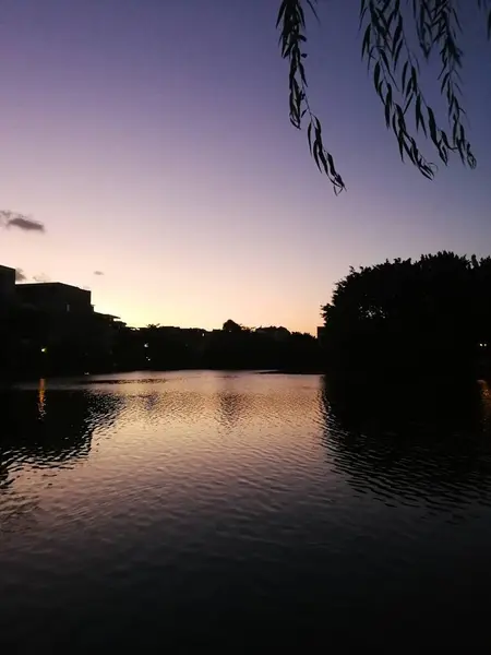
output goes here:
{"type": "Polygon", "coordinates": [[[386,502],[491,504],[489,386],[324,379],[324,443],[356,491],[386,502]]]}

